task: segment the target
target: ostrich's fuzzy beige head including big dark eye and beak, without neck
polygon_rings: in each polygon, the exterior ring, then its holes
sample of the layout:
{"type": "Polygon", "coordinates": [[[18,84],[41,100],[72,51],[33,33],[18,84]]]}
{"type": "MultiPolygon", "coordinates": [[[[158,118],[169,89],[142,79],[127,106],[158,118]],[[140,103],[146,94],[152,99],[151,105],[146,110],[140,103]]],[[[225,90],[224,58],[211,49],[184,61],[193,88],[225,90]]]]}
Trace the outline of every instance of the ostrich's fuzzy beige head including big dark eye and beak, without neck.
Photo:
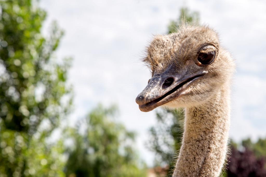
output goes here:
{"type": "Polygon", "coordinates": [[[209,27],[183,26],[178,33],[155,36],[144,62],[151,70],[136,102],[141,111],[158,106],[197,106],[230,79],[234,63],[209,27]]]}

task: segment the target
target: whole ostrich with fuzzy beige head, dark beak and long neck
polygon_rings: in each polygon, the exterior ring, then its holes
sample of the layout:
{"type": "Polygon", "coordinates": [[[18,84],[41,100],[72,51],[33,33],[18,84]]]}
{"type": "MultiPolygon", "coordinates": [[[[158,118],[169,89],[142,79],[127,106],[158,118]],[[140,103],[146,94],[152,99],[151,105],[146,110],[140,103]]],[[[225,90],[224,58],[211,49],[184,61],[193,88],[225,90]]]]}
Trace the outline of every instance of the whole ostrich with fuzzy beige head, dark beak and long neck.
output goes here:
{"type": "Polygon", "coordinates": [[[152,77],[136,98],[139,109],[185,108],[173,176],[219,176],[227,152],[235,64],[217,33],[207,26],[182,25],[178,33],[155,36],[144,62],[152,77]]]}

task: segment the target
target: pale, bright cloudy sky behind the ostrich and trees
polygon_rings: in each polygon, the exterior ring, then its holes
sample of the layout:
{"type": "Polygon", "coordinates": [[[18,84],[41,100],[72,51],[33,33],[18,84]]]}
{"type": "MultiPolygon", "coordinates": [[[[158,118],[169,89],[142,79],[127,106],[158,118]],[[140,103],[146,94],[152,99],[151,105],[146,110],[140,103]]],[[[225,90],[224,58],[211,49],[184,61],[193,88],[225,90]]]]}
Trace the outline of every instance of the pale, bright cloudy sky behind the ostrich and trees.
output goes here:
{"type": "Polygon", "coordinates": [[[181,7],[200,13],[201,23],[219,32],[222,45],[237,63],[232,86],[230,136],[240,141],[266,136],[266,2],[245,1],[85,1],[42,0],[65,36],[55,57],[72,56],[69,82],[74,85],[75,111],[70,122],[84,117],[98,103],[119,106],[119,120],[137,132],[136,146],[151,165],[144,143],[156,123],[155,111],[143,113],[135,97],[146,86],[148,69],[139,62],[153,34],[166,34],[181,7]]]}

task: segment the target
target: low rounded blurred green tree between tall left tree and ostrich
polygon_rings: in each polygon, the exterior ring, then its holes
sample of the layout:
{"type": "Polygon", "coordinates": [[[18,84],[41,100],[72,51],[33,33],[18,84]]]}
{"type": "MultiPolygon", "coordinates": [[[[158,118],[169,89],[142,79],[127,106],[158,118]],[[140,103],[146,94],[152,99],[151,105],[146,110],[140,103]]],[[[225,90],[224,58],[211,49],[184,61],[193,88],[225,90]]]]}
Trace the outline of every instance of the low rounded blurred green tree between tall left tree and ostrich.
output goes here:
{"type": "Polygon", "coordinates": [[[115,106],[99,105],[75,128],[66,129],[66,139],[73,145],[68,149],[66,176],[146,176],[146,165],[133,148],[135,135],[113,120],[116,112],[115,106]]]}

